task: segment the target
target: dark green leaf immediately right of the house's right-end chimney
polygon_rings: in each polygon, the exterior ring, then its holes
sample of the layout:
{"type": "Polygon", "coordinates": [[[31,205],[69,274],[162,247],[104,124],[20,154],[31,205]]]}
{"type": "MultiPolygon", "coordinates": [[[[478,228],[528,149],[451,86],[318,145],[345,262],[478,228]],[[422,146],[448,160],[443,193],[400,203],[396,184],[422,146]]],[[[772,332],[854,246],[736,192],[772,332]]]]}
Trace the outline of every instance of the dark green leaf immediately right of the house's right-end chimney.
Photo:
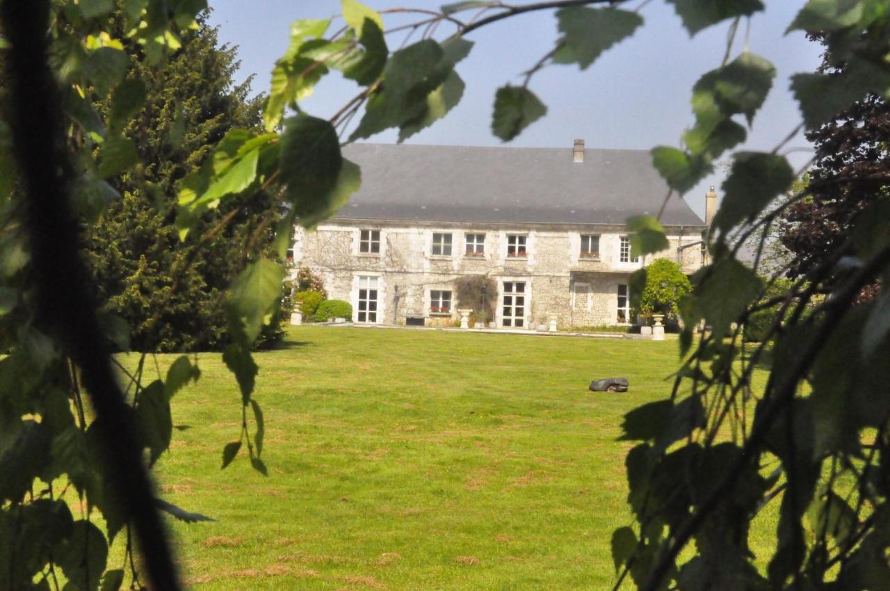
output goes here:
{"type": "Polygon", "coordinates": [[[784,157],[765,152],[737,153],[723,185],[724,199],[714,225],[727,232],[744,220],[750,222],[792,182],[794,170],[784,157]]]}

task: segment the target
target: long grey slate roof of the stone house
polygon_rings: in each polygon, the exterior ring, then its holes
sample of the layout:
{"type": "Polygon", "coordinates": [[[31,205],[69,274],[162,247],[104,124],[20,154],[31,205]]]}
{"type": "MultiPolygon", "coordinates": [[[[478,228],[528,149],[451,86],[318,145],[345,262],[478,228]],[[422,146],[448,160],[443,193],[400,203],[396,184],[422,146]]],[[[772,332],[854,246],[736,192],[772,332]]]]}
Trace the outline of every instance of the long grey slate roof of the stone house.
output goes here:
{"type": "MultiPolygon", "coordinates": [[[[479,148],[360,143],[344,156],[361,166],[361,189],[340,220],[623,224],[657,215],[667,184],[645,150],[479,148]]],[[[672,197],[664,225],[704,226],[672,197]]]]}

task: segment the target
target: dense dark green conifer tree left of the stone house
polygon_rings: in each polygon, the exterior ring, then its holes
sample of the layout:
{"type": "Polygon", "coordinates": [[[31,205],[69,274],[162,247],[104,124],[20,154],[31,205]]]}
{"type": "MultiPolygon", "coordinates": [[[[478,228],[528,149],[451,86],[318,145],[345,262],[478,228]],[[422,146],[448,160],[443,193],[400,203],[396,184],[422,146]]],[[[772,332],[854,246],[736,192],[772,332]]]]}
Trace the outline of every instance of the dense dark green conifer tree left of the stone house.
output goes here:
{"type": "MultiPolygon", "coordinates": [[[[132,142],[125,145],[134,146],[135,161],[106,180],[121,198],[104,209],[104,203],[90,204],[86,250],[104,309],[130,326],[134,351],[219,351],[228,344],[226,289],[248,257],[269,247],[272,232],[252,239],[255,228],[277,221],[275,200],[260,192],[204,215],[202,231],[237,211],[206,244],[179,239],[178,183],[198,170],[225,134],[262,124],[258,102],[247,99],[249,83],[232,84],[235,50],[219,46],[217,31],[205,20],[199,15],[197,30],[182,35],[182,47],[163,67],[145,63],[139,45],[124,45],[129,64],[116,96],[138,93],[144,100],[116,125],[121,141],[132,142]],[[263,222],[270,212],[271,222],[263,222]]],[[[108,112],[110,103],[106,98],[96,109],[108,112]]],[[[100,167],[103,162],[108,158],[100,159],[100,167]]],[[[271,324],[258,344],[282,334],[271,324]]]]}

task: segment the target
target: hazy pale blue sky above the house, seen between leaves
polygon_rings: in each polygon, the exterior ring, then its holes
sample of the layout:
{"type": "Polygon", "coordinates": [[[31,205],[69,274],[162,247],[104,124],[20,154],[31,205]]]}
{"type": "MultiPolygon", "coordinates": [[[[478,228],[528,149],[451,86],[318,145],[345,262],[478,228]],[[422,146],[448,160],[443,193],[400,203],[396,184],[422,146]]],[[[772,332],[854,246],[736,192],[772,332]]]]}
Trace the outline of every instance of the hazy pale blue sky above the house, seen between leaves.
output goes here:
{"type": "MultiPolygon", "coordinates": [[[[641,2],[629,6],[634,8],[641,2]]],[[[220,40],[239,47],[239,80],[254,74],[256,93],[268,88],[272,66],[287,49],[292,20],[328,18],[340,10],[339,0],[211,0],[210,4],[214,9],[211,22],[220,27],[220,40]]],[[[382,10],[438,8],[443,3],[367,0],[366,4],[382,10]]],[[[514,0],[512,4],[530,2],[514,0]]],[[[800,32],[785,35],[805,1],[765,0],[765,4],[767,10],[750,20],[748,49],[772,61],[778,74],[744,144],[748,150],[772,150],[797,125],[800,115],[788,90],[789,76],[812,71],[820,61],[819,45],[807,41],[800,32]]],[[[570,148],[575,138],[583,138],[588,148],[649,150],[659,144],[679,146],[680,134],[693,121],[689,103],[692,85],[723,60],[729,23],[690,38],[673,6],[664,0],[646,4],[641,14],[645,25],[587,70],[570,65],[539,72],[530,88],[546,103],[547,115],[506,145],[570,148]]],[[[399,17],[402,15],[385,16],[386,27],[406,22],[399,17]]],[[[417,15],[411,18],[417,20],[417,15]]],[[[453,26],[443,23],[437,36],[453,30],[453,26]]],[[[553,11],[523,14],[473,31],[468,36],[475,42],[473,51],[457,65],[466,83],[463,99],[447,117],[411,137],[409,143],[502,145],[490,130],[495,90],[507,82],[521,81],[521,73],[553,47],[556,37],[553,11]]],[[[742,24],[733,55],[742,51],[745,37],[742,24]]],[[[399,40],[398,36],[387,38],[391,48],[399,40]]],[[[352,81],[332,73],[301,104],[314,115],[329,117],[358,91],[352,81]]],[[[379,134],[370,141],[392,143],[396,134],[379,134]]],[[[789,153],[794,166],[805,163],[810,156],[803,137],[790,142],[788,148],[797,148],[789,153]]],[[[723,179],[724,171],[718,167],[716,174],[685,196],[700,215],[704,215],[708,185],[717,185],[719,193],[723,179]]]]}

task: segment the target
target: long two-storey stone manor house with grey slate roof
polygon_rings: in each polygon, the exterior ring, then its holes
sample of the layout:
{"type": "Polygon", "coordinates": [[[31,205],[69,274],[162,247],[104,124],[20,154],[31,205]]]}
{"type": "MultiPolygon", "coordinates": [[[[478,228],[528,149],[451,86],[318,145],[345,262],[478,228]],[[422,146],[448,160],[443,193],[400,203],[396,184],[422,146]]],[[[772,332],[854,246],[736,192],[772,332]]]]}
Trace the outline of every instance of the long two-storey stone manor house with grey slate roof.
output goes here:
{"type": "MultiPolygon", "coordinates": [[[[352,321],[452,324],[455,281],[497,286],[498,328],[561,328],[630,320],[624,223],[657,215],[667,185],[643,150],[469,148],[356,144],[361,189],[328,223],[296,233],[295,267],[324,278],[328,296],[352,303],[352,321]],[[491,283],[491,281],[488,281],[491,283]]],[[[716,210],[708,193],[706,217],[716,210]]],[[[709,220],[708,220],[709,221],[709,220]]],[[[669,257],[692,273],[708,226],[681,198],[661,217],[669,257]]],[[[651,258],[651,255],[650,255],[651,258]]],[[[651,262],[651,261],[650,261],[651,262]]],[[[488,290],[487,290],[488,291],[488,290]]]]}

